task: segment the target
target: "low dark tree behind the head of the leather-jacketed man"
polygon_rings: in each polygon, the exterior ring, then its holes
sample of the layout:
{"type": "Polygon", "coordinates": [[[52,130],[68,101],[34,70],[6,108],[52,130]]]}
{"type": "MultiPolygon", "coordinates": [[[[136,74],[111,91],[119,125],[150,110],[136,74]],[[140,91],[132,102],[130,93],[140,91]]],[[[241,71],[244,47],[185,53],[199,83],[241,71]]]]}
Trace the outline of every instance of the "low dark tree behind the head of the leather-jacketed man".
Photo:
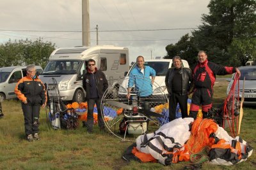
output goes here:
{"type": "Polygon", "coordinates": [[[188,60],[189,65],[193,65],[196,62],[198,50],[189,34],[182,36],[175,45],[167,45],[165,49],[167,51],[165,59],[172,59],[175,55],[179,55],[182,59],[188,60]]]}

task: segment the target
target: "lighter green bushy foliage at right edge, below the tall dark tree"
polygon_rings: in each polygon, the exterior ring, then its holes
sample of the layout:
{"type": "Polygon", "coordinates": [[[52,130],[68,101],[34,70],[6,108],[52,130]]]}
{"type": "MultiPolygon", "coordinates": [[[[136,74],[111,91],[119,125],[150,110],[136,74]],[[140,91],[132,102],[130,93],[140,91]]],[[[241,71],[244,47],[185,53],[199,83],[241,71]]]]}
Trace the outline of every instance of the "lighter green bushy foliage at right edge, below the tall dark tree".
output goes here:
{"type": "Polygon", "coordinates": [[[234,39],[228,51],[232,55],[234,63],[238,62],[245,66],[248,60],[256,60],[256,38],[234,39]]]}

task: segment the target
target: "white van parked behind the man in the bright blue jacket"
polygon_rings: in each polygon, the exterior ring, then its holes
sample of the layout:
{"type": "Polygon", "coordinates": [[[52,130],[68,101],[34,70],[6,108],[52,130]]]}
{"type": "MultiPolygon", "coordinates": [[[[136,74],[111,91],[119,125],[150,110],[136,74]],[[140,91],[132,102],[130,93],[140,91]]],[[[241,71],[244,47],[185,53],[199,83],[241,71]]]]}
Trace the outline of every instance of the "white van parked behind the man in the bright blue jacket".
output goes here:
{"type": "MultiPolygon", "coordinates": [[[[168,94],[164,80],[165,80],[165,76],[166,76],[168,69],[170,67],[173,67],[172,59],[145,60],[144,65],[150,66],[156,71],[156,78],[155,78],[154,83],[156,83],[157,86],[153,87],[153,95],[160,95],[159,92],[164,92],[164,94],[168,94]],[[160,88],[160,89],[156,89],[156,88],[160,88]]],[[[131,72],[132,69],[134,69],[135,66],[136,66],[136,62],[134,62],[134,64],[132,65],[132,67],[129,70],[127,75],[129,75],[129,73],[131,72]]],[[[188,61],[182,60],[182,66],[189,68],[188,61]]],[[[122,82],[122,87],[124,87],[125,90],[127,89],[128,81],[129,81],[129,78],[125,78],[124,81],[122,82]]],[[[122,89],[122,90],[124,90],[124,89],[122,89]]],[[[122,90],[119,90],[118,94],[124,95],[125,93],[122,92],[122,90]]],[[[126,92],[126,94],[127,94],[127,92],[126,92]]]]}

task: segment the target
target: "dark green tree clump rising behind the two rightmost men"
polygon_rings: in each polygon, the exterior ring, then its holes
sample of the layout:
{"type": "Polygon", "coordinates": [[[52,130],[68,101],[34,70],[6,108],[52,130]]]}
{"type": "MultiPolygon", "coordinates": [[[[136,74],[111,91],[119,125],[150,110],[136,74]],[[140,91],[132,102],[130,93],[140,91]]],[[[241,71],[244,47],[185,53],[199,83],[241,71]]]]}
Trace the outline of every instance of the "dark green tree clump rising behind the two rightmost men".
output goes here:
{"type": "Polygon", "coordinates": [[[202,25],[191,36],[182,36],[166,46],[165,59],[179,55],[195,64],[199,50],[207,52],[217,64],[245,66],[256,60],[256,1],[211,0],[209,15],[202,15],[202,25]]]}

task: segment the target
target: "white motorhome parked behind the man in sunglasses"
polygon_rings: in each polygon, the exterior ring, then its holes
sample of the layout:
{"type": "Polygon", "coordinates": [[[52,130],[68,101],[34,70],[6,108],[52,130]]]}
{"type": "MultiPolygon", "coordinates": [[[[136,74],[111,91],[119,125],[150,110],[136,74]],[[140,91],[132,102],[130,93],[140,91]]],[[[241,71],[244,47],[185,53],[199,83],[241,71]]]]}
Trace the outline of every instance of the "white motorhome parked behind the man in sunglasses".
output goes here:
{"type": "Polygon", "coordinates": [[[63,101],[83,102],[83,74],[87,71],[88,60],[96,61],[96,67],[106,74],[109,86],[129,71],[128,48],[116,46],[92,46],[58,48],[51,53],[49,62],[40,79],[47,83],[49,96],[58,96],[63,101]],[[53,78],[56,80],[55,84],[53,78]]]}

